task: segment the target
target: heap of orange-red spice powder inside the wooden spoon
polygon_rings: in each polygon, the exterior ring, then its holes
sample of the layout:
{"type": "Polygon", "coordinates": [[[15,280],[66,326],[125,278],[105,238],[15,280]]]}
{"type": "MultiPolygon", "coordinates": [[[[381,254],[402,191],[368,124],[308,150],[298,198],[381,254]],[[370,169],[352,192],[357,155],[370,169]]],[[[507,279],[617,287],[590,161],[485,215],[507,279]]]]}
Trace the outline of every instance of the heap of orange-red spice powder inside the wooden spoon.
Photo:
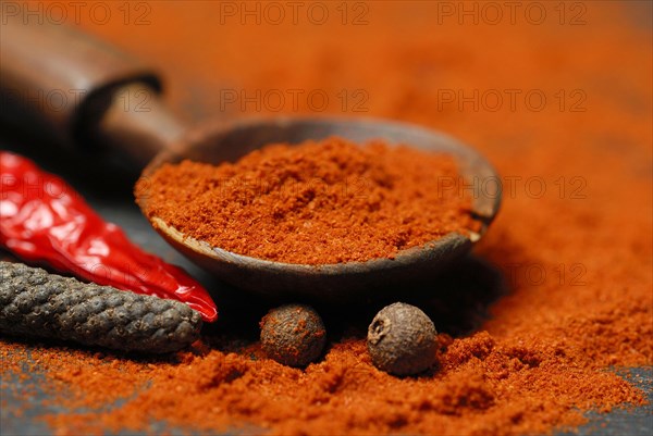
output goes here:
{"type": "Polygon", "coordinates": [[[164,164],[136,192],[148,216],[214,247],[325,264],[392,258],[477,228],[461,182],[451,155],[332,137],[270,145],[236,163],[164,164]]]}

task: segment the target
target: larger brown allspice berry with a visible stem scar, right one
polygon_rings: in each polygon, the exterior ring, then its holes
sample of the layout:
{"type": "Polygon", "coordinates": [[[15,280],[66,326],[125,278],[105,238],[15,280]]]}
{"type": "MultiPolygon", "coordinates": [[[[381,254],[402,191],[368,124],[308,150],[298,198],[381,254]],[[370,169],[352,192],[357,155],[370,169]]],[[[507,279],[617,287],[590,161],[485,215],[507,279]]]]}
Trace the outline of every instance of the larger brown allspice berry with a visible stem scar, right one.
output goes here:
{"type": "Polygon", "coordinates": [[[415,306],[395,302],[381,309],[368,328],[372,363],[395,375],[411,375],[435,362],[435,326],[415,306]]]}

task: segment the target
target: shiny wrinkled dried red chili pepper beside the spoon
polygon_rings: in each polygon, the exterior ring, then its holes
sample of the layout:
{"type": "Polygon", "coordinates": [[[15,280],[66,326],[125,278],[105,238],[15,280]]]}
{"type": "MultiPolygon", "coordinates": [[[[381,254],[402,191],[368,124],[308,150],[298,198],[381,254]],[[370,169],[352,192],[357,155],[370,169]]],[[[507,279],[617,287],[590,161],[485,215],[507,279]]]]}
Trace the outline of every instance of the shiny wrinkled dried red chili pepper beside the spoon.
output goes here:
{"type": "Polygon", "coordinates": [[[82,196],[34,162],[0,151],[0,245],[100,285],[182,301],[218,319],[208,291],[185,271],[134,245],[82,196]]]}

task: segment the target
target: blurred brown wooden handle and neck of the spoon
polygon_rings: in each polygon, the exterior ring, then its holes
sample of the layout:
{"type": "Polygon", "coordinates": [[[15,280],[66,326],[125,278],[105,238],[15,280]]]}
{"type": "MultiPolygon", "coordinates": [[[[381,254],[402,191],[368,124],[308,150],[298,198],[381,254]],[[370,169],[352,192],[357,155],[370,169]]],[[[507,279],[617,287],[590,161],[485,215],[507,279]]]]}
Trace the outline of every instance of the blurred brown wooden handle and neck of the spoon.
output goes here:
{"type": "Polygon", "coordinates": [[[3,16],[0,113],[76,147],[103,144],[144,165],[184,126],[159,99],[157,75],[116,48],[47,20],[3,16]]]}

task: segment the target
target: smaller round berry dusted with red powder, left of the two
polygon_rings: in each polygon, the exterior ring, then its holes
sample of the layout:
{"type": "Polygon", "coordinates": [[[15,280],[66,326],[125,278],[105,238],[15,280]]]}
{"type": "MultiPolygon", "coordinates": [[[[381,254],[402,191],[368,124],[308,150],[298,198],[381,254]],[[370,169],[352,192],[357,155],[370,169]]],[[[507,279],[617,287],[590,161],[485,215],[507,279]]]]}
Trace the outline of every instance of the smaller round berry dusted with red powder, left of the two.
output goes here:
{"type": "Polygon", "coordinates": [[[263,351],[279,363],[306,366],[324,348],[326,331],[310,306],[285,304],[272,309],[260,322],[263,351]]]}

